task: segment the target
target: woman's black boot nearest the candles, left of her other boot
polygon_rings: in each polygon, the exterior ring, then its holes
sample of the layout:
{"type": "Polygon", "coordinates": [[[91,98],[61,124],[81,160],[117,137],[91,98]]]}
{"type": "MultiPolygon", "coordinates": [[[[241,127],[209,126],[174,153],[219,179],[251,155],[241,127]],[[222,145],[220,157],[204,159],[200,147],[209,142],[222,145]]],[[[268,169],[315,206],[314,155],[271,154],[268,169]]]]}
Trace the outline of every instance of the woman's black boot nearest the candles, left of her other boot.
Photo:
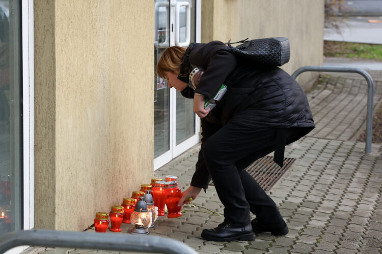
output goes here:
{"type": "Polygon", "coordinates": [[[209,241],[253,240],[251,224],[237,227],[224,222],[214,229],[204,229],[201,236],[209,241]]]}

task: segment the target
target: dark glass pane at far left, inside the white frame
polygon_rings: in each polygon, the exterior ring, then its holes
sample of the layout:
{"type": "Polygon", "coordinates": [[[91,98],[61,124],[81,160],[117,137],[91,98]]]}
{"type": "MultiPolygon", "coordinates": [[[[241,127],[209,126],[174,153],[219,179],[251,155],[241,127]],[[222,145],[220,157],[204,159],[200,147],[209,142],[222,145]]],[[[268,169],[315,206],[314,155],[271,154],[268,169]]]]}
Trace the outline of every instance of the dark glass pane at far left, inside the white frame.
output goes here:
{"type": "Polygon", "coordinates": [[[0,236],[21,229],[19,4],[0,0],[0,236]]]}

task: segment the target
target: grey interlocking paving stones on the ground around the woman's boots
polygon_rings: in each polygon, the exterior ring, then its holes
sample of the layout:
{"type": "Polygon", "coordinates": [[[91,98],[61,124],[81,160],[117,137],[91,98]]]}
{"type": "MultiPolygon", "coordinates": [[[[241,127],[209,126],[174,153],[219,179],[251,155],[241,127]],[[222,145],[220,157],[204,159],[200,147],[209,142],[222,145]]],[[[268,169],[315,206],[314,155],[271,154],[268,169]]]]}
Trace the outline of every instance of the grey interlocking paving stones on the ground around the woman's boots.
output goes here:
{"type": "MultiPolygon", "coordinates": [[[[308,95],[317,130],[286,147],[285,156],[296,161],[268,192],[287,222],[288,235],[263,233],[253,241],[205,241],[202,230],[217,226],[224,218],[200,212],[203,209],[198,207],[188,208],[195,211],[178,218],[160,216],[150,234],[182,241],[198,253],[382,253],[382,145],[372,144],[372,152],[365,154],[365,143],[349,141],[354,135],[347,132],[357,132],[362,126],[357,120],[364,111],[360,105],[366,105],[362,82],[324,77],[322,85],[308,95]],[[348,109],[350,105],[356,106],[348,109]]],[[[375,102],[382,97],[378,82],[375,102]]],[[[190,148],[154,175],[177,175],[180,187],[187,188],[198,151],[199,145],[190,148]]],[[[213,186],[194,202],[223,213],[213,186]]],[[[122,231],[130,227],[123,225],[122,231]]],[[[32,247],[23,253],[41,252],[122,253],[32,247]]]]}

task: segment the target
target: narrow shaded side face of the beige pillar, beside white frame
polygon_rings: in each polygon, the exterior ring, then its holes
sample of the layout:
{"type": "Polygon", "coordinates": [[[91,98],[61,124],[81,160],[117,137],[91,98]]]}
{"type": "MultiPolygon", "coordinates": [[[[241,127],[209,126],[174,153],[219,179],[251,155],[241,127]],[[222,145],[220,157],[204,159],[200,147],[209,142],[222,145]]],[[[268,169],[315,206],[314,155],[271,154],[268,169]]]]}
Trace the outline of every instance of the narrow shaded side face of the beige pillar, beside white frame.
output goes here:
{"type": "Polygon", "coordinates": [[[54,2],[34,1],[35,226],[53,229],[56,161],[56,59],[54,2]]]}

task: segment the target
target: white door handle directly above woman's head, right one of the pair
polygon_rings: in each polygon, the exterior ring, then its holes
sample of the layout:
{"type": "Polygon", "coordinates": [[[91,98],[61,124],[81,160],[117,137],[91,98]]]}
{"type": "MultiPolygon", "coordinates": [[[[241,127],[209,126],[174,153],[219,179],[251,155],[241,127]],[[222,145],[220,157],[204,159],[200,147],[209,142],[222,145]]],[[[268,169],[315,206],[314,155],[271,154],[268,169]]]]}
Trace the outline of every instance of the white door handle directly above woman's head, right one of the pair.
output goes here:
{"type": "Polygon", "coordinates": [[[188,2],[176,2],[175,5],[175,46],[188,47],[191,40],[191,7],[188,2]],[[180,7],[186,8],[186,38],[180,42],[180,7]]]}

